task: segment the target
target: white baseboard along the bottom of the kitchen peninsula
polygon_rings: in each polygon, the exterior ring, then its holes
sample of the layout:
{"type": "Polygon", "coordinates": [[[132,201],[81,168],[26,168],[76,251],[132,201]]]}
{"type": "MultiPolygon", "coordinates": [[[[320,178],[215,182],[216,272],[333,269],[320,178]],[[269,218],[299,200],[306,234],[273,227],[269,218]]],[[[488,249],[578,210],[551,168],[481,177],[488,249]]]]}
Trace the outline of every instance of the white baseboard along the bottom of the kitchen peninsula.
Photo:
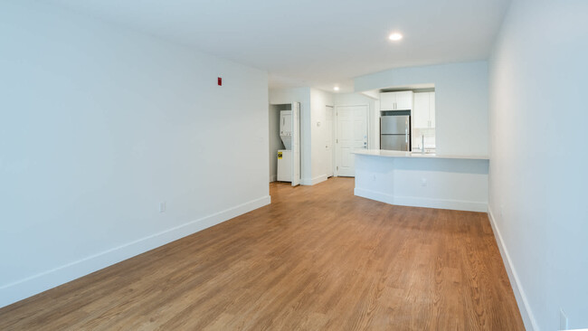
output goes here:
{"type": "Polygon", "coordinates": [[[354,194],[367,199],[379,201],[381,203],[390,203],[398,205],[406,205],[412,207],[438,208],[438,209],[452,209],[457,211],[482,212],[488,211],[488,203],[479,203],[461,200],[445,200],[445,199],[430,199],[414,196],[396,196],[391,194],[384,194],[356,187],[354,194]]]}

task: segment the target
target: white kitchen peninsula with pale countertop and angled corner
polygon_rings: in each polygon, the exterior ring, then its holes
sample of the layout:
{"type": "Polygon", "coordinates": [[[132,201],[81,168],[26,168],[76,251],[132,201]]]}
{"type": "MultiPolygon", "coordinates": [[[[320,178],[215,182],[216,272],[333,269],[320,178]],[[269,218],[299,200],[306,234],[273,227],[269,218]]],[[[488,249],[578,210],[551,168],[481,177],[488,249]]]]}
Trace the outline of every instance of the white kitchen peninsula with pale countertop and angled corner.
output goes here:
{"type": "Polygon", "coordinates": [[[355,152],[355,194],[383,203],[488,210],[488,157],[390,150],[355,152]]]}

